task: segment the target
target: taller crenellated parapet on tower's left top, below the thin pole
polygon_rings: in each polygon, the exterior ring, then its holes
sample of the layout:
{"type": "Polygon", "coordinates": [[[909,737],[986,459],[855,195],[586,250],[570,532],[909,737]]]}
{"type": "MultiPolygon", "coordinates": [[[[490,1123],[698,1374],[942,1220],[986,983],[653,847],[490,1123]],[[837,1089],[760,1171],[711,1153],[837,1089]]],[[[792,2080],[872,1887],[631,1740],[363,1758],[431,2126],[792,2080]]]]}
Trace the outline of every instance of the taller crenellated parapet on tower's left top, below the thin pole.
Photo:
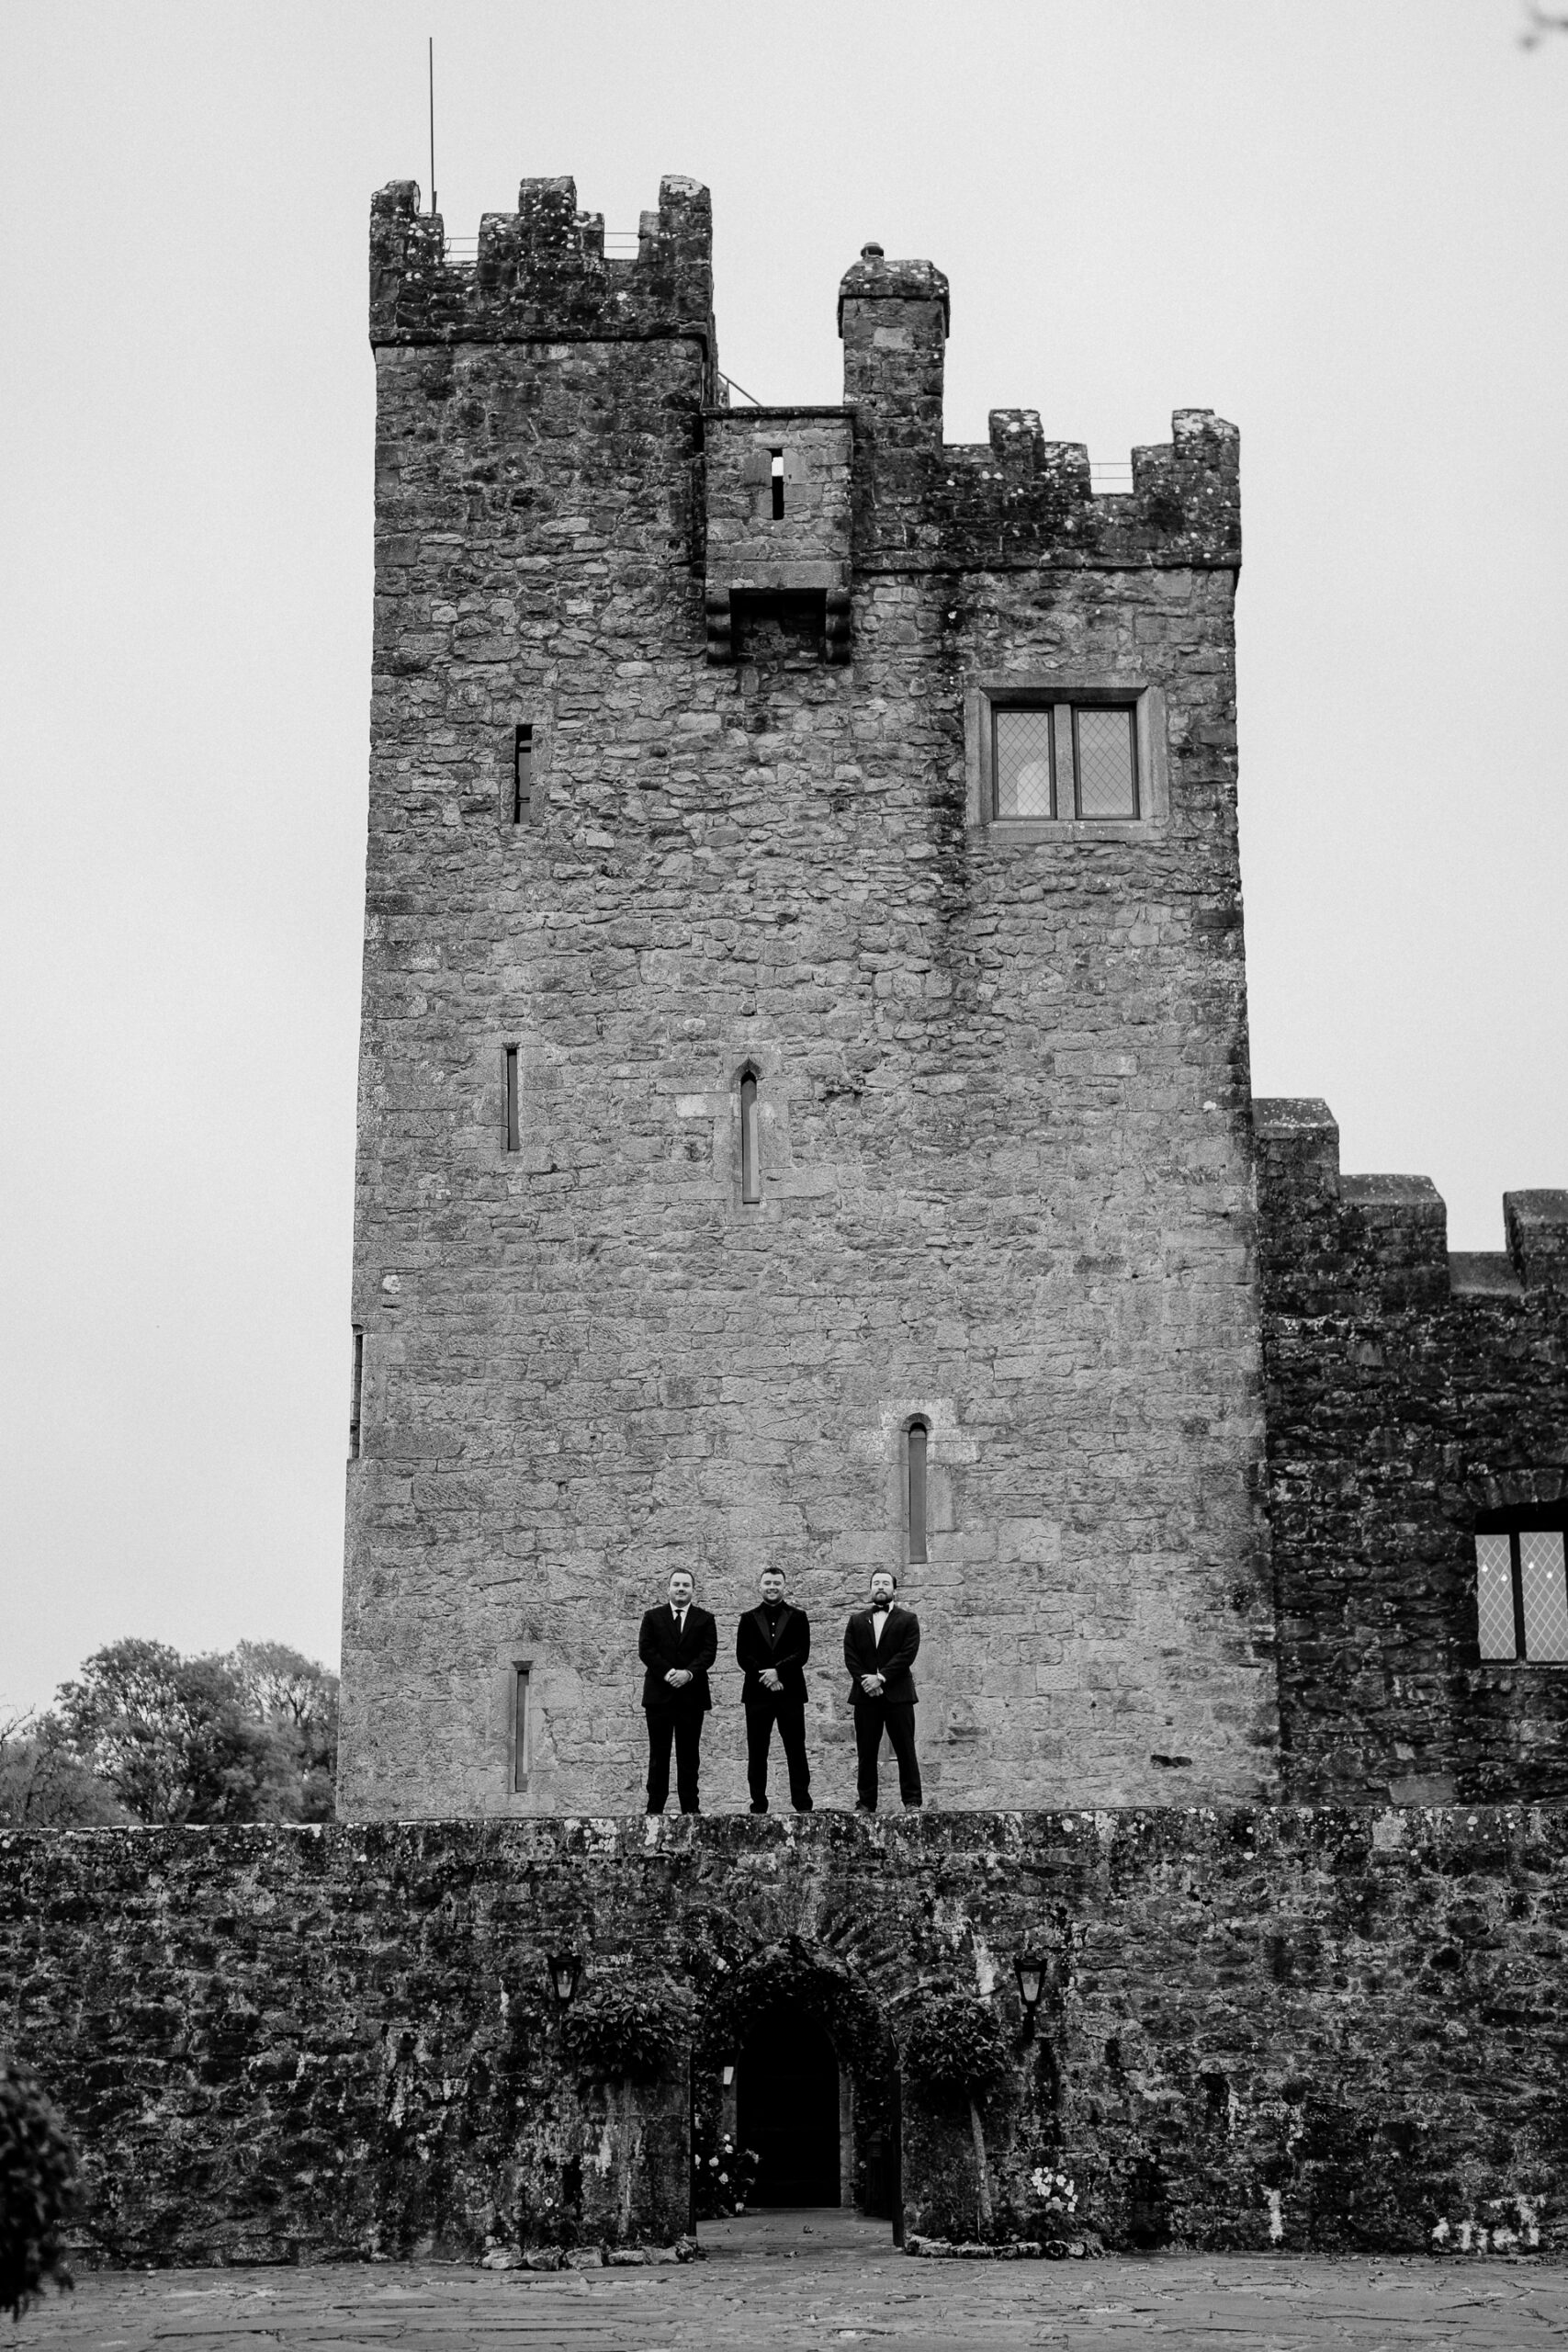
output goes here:
{"type": "Polygon", "coordinates": [[[440,214],[395,179],[371,198],[371,343],[696,339],[710,362],[712,205],[693,179],[658,183],[637,256],[604,252],[604,216],[578,212],[576,181],[524,179],[517,212],[487,212],[475,259],[447,252],[440,214]]]}

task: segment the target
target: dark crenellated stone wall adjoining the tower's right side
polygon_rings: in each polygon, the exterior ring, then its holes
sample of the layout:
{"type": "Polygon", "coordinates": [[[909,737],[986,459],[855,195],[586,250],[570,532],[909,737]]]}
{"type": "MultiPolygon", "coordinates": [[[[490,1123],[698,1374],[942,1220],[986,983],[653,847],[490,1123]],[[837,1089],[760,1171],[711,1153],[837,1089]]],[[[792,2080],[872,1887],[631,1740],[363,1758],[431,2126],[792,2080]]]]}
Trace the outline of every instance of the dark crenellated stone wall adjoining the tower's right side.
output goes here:
{"type": "Polygon", "coordinates": [[[1450,1256],[1429,1178],[1342,1176],[1324,1103],[1255,1124],[1286,1788],[1563,1795],[1568,1665],[1481,1661],[1472,1538],[1568,1501],[1568,1195],[1450,1256]]]}

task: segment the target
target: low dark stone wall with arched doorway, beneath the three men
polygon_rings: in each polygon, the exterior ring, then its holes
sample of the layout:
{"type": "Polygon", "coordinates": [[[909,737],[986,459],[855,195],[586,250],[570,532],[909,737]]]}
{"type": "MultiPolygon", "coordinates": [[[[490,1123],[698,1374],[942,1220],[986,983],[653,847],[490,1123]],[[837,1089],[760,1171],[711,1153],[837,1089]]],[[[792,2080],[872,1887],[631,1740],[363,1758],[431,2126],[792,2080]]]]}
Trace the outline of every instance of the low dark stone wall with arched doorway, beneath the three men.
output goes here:
{"type": "MultiPolygon", "coordinates": [[[[1053,2166],[1112,2244],[1556,2251],[1566,1898],[1556,1809],[9,1832],[0,2034],[80,2136],[89,2260],[668,2239],[684,2053],[630,2100],[581,2079],[555,1950],[578,1999],[693,1990],[698,2103],[792,1987],[856,2074],[860,2178],[910,1997],[985,1997],[1001,2237],[1041,2234],[1053,2166]]],[[[912,2084],[903,2204],[976,2230],[969,2119],[912,2084]]]]}

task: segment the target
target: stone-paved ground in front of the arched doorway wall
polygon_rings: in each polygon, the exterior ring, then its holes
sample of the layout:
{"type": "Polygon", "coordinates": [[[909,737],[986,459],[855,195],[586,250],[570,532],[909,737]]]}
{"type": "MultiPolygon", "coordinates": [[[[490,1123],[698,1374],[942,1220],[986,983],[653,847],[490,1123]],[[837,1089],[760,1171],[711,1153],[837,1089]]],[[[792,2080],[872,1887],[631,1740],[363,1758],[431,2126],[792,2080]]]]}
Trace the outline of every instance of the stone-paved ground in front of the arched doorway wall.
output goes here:
{"type": "Polygon", "coordinates": [[[703,2227],[705,2263],[491,2272],[437,2263],[99,2272],[16,2352],[1533,2352],[1568,2345],[1568,2267],[1495,2260],[1112,2256],[917,2263],[856,2216],[703,2227]]]}

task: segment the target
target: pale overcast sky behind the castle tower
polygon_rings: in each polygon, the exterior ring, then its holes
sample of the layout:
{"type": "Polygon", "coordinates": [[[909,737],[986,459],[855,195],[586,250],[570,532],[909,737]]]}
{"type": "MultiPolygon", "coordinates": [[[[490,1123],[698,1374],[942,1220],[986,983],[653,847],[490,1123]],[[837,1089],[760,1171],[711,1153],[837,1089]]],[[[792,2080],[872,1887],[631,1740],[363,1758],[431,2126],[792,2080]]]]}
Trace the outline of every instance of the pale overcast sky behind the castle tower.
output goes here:
{"type": "Polygon", "coordinates": [[[1260,1094],[1450,1244],[1568,1185],[1568,38],[1521,0],[9,0],[0,1703],[336,1658],[371,188],[710,183],[719,355],[839,397],[867,238],[947,437],[1241,426],[1260,1094]]]}

